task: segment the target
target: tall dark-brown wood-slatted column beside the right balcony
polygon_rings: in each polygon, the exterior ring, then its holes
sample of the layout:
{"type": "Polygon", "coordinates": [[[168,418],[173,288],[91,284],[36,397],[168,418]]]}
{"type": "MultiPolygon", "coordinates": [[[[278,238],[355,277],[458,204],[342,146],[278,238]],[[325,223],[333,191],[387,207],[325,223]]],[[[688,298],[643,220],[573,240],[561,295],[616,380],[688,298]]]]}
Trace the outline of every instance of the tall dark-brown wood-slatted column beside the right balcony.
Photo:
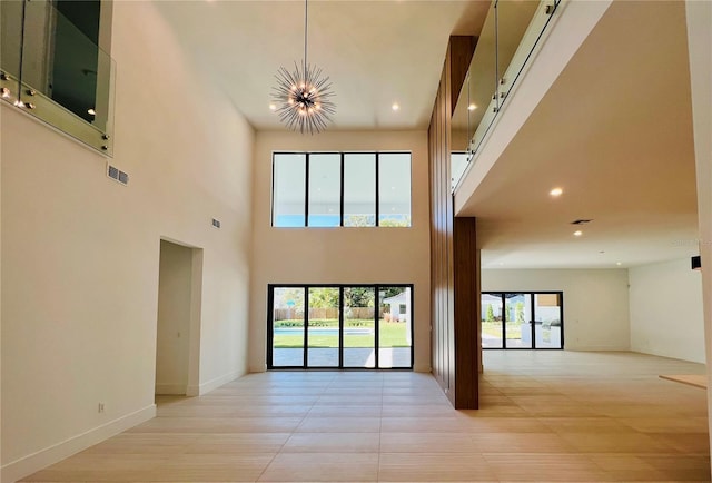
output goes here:
{"type": "Polygon", "coordinates": [[[463,410],[478,407],[479,268],[475,219],[453,213],[451,121],[475,43],[451,37],[428,128],[433,375],[463,410]]]}

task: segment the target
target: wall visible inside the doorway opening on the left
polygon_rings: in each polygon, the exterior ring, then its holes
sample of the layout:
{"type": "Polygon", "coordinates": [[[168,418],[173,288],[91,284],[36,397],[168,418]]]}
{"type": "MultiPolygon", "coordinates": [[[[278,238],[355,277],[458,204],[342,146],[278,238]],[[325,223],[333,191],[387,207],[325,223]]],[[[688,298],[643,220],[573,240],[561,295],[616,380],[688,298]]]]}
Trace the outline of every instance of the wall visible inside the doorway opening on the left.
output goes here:
{"type": "Polygon", "coordinates": [[[190,354],[192,250],[160,241],[156,394],[186,394],[190,354]]]}

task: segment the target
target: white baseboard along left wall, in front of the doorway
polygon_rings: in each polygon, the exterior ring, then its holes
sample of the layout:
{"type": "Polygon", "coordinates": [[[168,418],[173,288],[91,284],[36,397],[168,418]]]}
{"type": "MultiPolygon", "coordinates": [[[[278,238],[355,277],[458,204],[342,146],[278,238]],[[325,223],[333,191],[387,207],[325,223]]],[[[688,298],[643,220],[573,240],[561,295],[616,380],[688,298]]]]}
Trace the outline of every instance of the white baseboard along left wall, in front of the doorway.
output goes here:
{"type": "Polygon", "coordinates": [[[156,417],[155,404],[53,444],[37,453],[23,456],[0,469],[0,481],[4,483],[16,482],[152,417],[156,417]]]}

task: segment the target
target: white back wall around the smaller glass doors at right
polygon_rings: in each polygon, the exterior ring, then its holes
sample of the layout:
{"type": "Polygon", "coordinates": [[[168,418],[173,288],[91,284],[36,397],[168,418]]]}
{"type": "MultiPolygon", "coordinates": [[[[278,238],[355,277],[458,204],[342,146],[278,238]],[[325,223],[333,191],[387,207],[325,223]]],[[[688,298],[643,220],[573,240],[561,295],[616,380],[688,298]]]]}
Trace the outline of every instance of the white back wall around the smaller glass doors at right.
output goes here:
{"type": "Polygon", "coordinates": [[[482,292],[536,290],[564,293],[564,348],[630,348],[627,270],[482,270],[482,292]]]}

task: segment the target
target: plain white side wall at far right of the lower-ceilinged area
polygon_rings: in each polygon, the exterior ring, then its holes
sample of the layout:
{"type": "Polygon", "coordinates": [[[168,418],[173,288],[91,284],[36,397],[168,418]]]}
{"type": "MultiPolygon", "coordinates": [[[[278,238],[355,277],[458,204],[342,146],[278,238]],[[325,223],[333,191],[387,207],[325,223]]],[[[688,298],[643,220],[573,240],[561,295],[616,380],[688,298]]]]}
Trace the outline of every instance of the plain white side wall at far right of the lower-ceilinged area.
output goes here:
{"type": "Polygon", "coordinates": [[[631,349],[704,364],[702,277],[690,258],[629,269],[631,349]]]}

